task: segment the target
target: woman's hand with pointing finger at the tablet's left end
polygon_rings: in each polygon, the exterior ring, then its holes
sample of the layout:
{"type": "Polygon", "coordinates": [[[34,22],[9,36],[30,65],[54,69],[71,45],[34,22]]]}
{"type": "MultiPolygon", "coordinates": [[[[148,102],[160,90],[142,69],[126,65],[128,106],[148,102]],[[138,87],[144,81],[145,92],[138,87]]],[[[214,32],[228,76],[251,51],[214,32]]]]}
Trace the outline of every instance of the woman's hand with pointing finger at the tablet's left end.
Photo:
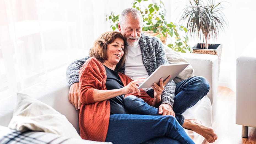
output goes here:
{"type": "Polygon", "coordinates": [[[138,89],[138,86],[136,84],[142,83],[145,81],[145,77],[139,77],[134,81],[131,81],[129,84],[127,84],[125,87],[121,88],[123,91],[123,94],[135,94],[138,92],[138,95],[141,95],[140,90],[138,89]]]}

